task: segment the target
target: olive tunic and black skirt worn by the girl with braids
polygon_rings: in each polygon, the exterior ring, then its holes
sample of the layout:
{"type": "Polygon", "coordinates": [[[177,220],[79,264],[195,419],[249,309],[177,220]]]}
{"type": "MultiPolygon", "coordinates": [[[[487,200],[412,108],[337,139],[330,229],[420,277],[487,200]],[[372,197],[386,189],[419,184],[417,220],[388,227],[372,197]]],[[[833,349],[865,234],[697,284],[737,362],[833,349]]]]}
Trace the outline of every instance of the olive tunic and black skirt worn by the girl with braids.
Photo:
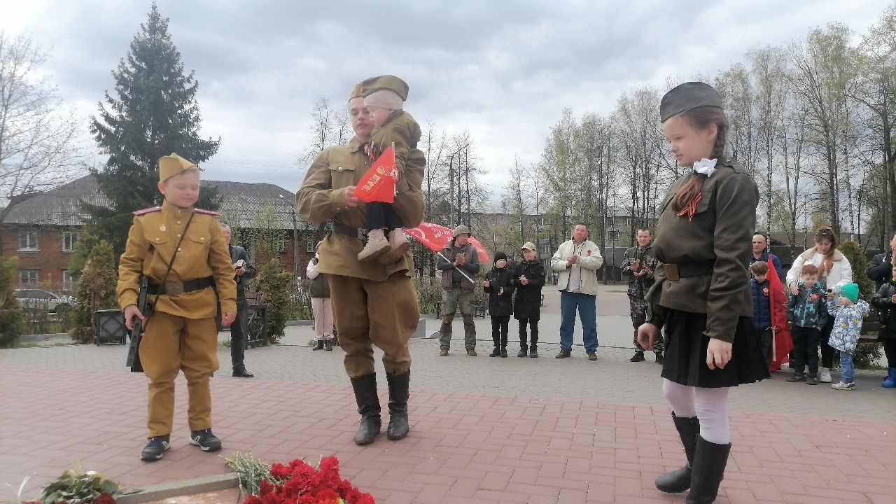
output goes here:
{"type": "Polygon", "coordinates": [[[662,376],[690,387],[734,387],[769,378],[753,332],[746,270],[759,191],[737,161],[719,160],[703,183],[692,220],[677,215],[671,202],[678,188],[697,176],[685,175],[669,187],[653,243],[663,266],[647,293],[647,321],[666,326],[662,376]],[[671,277],[673,268],[680,278],[671,277]],[[710,338],[732,343],[731,363],[724,369],[706,365],[710,338]]]}

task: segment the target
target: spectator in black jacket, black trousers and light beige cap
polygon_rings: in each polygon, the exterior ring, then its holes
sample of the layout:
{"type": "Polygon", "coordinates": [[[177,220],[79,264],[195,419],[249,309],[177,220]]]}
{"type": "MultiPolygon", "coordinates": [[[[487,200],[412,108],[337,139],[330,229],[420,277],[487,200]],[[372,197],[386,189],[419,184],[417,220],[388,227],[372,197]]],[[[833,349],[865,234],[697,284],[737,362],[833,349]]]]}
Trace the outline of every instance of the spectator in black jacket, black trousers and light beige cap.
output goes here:
{"type": "Polygon", "coordinates": [[[522,246],[522,261],[513,267],[513,317],[520,321],[520,352],[517,357],[538,357],[538,318],[541,311],[541,288],[545,286],[545,265],[536,257],[535,244],[527,241],[522,246]],[[530,346],[526,346],[526,326],[531,331],[530,346]]]}

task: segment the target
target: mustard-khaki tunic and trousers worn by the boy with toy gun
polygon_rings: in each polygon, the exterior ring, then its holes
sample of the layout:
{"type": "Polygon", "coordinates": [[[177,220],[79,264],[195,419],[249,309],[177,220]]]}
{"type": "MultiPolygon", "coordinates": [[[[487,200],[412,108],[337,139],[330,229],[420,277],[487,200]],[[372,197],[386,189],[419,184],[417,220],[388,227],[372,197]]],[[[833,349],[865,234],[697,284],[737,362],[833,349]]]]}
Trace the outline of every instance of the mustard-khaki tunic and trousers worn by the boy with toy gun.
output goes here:
{"type": "Polygon", "coordinates": [[[237,311],[237,284],[227,242],[216,213],[178,208],[166,201],[135,214],[118,265],[116,291],[122,309],[137,303],[141,275],[149,277],[151,285],[211,276],[217,289],[217,295],[206,287],[177,295],[149,296],[153,312],[143,323],[140,345],[140,360],[150,379],[147,437],[171,433],[178,370],[184,371],[187,381],[190,430],[210,429],[209,378],[219,367],[214,317],[219,303],[222,313],[237,311]],[[168,272],[172,257],[174,264],[168,272]]]}

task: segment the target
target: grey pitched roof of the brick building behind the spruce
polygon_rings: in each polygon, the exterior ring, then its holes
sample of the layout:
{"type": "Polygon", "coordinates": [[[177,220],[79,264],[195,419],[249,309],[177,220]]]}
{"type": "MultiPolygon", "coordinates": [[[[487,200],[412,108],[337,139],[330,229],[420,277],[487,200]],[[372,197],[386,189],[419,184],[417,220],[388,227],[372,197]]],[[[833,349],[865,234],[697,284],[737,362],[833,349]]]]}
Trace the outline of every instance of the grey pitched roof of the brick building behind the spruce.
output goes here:
{"type": "MultiPolygon", "coordinates": [[[[297,225],[304,223],[293,206],[295,194],[283,187],[221,180],[203,180],[202,184],[218,189],[222,196],[218,212],[231,227],[291,230],[294,216],[297,225]]],[[[82,203],[109,204],[92,175],[10,204],[4,223],[81,226],[87,220],[82,203]]]]}

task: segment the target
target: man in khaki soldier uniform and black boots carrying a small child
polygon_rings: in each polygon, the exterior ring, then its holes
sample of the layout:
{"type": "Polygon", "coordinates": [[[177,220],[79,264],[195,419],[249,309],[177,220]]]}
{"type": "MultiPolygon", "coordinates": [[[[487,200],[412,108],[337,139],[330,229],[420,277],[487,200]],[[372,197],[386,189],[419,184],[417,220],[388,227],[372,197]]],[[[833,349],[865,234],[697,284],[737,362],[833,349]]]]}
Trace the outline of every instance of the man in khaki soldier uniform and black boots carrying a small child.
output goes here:
{"type": "MultiPolygon", "coordinates": [[[[388,81],[365,82],[382,89],[388,81]]],[[[366,239],[364,204],[355,196],[358,180],[370,166],[364,146],[373,123],[364,107],[365,91],[358,84],[349,95],[349,118],[355,137],[348,145],[321,152],[306,174],[296,196],[299,213],[309,222],[332,220],[332,233],[320,246],[317,270],[330,275],[333,317],[344,365],[361,414],[355,443],[365,445],[380,435],[380,400],[376,394],[374,345],[383,351],[383,367],[389,385],[389,439],[408,434],[410,352],[408,342],[417,329],[419,308],[411,277],[414,260],[406,252],[392,265],[358,263],[366,239]]],[[[423,152],[411,149],[405,172],[395,184],[393,209],[407,227],[423,220],[423,152]]]]}

